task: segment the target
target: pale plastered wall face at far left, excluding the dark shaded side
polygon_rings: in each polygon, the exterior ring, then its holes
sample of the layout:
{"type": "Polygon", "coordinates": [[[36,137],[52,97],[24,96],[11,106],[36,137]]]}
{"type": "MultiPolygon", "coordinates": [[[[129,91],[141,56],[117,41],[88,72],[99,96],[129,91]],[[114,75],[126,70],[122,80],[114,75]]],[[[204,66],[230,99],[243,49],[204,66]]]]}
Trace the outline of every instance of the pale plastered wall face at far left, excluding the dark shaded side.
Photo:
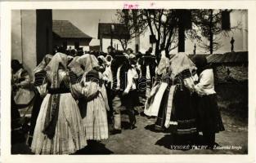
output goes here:
{"type": "Polygon", "coordinates": [[[36,54],[36,11],[11,11],[11,59],[18,59],[31,75],[36,54]]]}

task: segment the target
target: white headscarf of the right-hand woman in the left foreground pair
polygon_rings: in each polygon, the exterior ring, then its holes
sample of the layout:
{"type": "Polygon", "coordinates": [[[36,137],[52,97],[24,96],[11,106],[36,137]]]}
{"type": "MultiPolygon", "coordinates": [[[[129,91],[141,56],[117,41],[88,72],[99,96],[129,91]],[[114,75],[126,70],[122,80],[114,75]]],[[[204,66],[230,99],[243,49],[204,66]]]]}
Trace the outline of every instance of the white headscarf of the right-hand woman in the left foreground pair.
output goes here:
{"type": "Polygon", "coordinates": [[[78,59],[79,64],[83,65],[84,73],[88,73],[93,68],[99,67],[98,60],[96,56],[85,54],[79,57],[78,59]]]}

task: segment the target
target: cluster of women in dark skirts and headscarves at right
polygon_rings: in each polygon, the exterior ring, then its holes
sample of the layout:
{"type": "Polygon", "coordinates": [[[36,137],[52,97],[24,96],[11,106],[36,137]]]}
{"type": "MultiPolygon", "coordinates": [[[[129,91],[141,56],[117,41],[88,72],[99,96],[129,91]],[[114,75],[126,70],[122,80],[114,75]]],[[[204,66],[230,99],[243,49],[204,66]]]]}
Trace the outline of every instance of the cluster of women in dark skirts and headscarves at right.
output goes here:
{"type": "Polygon", "coordinates": [[[162,57],[157,71],[161,80],[155,81],[144,112],[157,117],[156,129],[170,130],[174,139],[183,143],[193,142],[203,131],[204,143],[212,148],[215,133],[224,127],[216,102],[213,69],[207,67],[206,59],[204,64],[201,60],[196,59],[194,64],[185,53],[174,55],[169,62],[162,57]]]}

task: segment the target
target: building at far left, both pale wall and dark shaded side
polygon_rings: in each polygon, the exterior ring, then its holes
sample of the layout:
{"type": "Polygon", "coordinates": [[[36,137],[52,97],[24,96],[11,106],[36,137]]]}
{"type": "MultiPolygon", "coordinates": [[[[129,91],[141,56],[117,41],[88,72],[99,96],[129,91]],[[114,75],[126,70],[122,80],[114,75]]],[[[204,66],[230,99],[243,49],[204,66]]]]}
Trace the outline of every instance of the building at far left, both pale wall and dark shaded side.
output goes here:
{"type": "Polygon", "coordinates": [[[52,53],[52,10],[11,11],[11,59],[32,76],[47,53],[52,53]]]}

